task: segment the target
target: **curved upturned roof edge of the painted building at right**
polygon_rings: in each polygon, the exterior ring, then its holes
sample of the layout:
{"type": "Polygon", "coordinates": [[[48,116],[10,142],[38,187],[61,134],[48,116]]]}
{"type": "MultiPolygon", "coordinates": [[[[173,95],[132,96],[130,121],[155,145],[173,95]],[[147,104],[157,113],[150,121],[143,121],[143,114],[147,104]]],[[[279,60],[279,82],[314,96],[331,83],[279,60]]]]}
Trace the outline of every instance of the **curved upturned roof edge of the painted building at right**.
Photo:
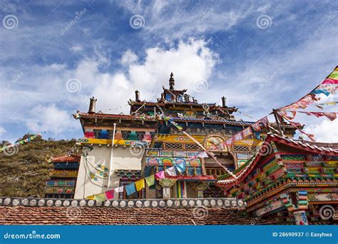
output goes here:
{"type": "MultiPolygon", "coordinates": [[[[327,154],[330,156],[338,156],[338,150],[333,149],[332,147],[323,147],[323,143],[314,143],[314,142],[302,142],[302,141],[295,141],[290,138],[277,136],[272,133],[268,133],[267,138],[265,138],[264,143],[268,143],[269,141],[275,141],[277,143],[282,143],[287,146],[291,146],[292,148],[297,148],[302,151],[309,151],[310,153],[318,153],[318,154],[327,154]],[[320,146],[317,146],[320,145],[320,146]]],[[[263,143],[263,145],[264,145],[263,143]]],[[[325,143],[326,144],[326,143],[325,143]]],[[[338,143],[332,143],[331,145],[336,148],[338,146],[338,143]]],[[[237,176],[237,183],[241,182],[242,180],[247,177],[247,175],[252,171],[253,168],[255,168],[256,164],[260,161],[260,158],[262,156],[266,156],[266,150],[267,148],[265,146],[262,146],[252,158],[250,158],[247,163],[245,163],[243,166],[238,168],[236,171],[234,171],[235,175],[237,176]]],[[[216,185],[219,186],[232,186],[236,183],[235,178],[229,176],[228,174],[224,176],[219,177],[220,181],[217,181],[216,185]]]]}

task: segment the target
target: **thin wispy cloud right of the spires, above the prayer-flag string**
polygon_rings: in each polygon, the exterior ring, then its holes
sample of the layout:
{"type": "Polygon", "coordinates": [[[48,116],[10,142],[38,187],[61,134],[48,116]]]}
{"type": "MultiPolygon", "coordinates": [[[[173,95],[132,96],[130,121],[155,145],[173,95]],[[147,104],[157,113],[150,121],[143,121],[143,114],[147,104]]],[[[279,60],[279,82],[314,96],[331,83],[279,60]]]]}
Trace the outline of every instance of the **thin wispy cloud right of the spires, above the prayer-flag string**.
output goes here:
{"type": "MultiPolygon", "coordinates": [[[[324,31],[330,32],[329,28],[324,31]]],[[[297,101],[324,80],[337,63],[336,56],[330,55],[337,53],[335,39],[323,33],[301,46],[247,59],[233,70],[225,69],[227,73],[221,73],[220,77],[227,82],[209,86],[209,93],[201,96],[225,95],[230,106],[241,106],[245,113],[262,118],[272,108],[297,101]]],[[[320,102],[336,101],[336,98],[324,97],[320,102]]],[[[299,122],[308,124],[307,120],[299,122]]]]}

